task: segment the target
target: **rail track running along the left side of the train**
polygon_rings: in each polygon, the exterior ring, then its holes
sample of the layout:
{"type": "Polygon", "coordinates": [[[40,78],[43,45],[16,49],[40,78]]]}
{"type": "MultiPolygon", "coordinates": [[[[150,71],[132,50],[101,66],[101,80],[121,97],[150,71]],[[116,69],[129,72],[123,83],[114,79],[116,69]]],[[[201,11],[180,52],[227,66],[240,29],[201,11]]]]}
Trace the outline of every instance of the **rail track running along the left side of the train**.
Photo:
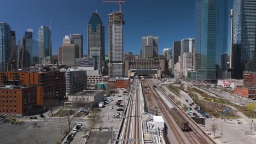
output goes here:
{"type": "Polygon", "coordinates": [[[170,125],[170,128],[172,129],[173,131],[173,134],[175,135],[176,137],[176,141],[178,143],[185,143],[184,141],[184,137],[181,136],[180,132],[177,130],[177,128],[175,127],[174,123],[175,121],[173,121],[171,118],[170,118],[170,113],[168,113],[166,110],[166,104],[164,103],[164,101],[162,101],[162,99],[159,97],[158,94],[156,94],[156,92],[154,91],[153,89],[153,85],[152,83],[146,81],[146,83],[148,84],[149,88],[151,89],[151,91],[153,92],[153,94],[155,95],[156,98],[158,98],[158,100],[156,100],[156,103],[158,103],[158,106],[162,112],[162,116],[164,116],[167,120],[167,123],[170,125]]]}

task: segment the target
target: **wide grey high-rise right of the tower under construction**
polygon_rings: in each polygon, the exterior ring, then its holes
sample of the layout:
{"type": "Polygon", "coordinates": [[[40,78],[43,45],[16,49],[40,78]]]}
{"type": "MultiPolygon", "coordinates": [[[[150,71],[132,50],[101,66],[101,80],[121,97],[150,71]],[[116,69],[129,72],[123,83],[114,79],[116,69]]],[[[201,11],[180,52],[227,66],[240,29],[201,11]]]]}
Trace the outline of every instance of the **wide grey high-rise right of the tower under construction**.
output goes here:
{"type": "Polygon", "coordinates": [[[152,34],[142,37],[141,57],[158,57],[158,37],[154,37],[152,34]]]}

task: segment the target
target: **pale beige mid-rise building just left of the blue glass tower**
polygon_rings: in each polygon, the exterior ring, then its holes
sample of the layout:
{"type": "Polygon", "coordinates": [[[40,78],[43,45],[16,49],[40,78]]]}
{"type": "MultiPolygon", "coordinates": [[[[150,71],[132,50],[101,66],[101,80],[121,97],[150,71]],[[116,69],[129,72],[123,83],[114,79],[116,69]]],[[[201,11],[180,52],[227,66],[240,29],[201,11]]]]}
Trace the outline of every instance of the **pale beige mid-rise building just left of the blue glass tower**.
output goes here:
{"type": "Polygon", "coordinates": [[[188,70],[193,70],[193,54],[191,52],[184,52],[183,55],[182,72],[183,75],[188,75],[188,70]]]}

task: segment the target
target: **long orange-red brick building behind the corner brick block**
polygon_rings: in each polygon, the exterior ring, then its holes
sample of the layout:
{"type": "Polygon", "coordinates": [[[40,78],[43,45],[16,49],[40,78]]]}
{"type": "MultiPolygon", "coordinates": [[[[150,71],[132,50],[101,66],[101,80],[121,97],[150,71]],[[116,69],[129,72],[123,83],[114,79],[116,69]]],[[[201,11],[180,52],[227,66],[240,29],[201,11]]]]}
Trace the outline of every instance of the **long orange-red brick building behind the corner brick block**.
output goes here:
{"type": "Polygon", "coordinates": [[[65,72],[61,71],[9,71],[0,72],[0,85],[15,82],[25,87],[37,87],[37,105],[47,107],[62,100],[66,93],[65,72]]]}

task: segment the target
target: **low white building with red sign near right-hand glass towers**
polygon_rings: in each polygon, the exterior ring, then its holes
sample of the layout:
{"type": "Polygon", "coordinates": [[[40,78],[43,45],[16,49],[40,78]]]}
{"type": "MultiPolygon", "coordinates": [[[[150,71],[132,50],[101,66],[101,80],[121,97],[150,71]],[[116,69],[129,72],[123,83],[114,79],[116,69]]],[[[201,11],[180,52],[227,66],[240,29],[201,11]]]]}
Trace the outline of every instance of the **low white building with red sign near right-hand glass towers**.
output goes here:
{"type": "Polygon", "coordinates": [[[218,86],[222,87],[243,87],[243,80],[235,80],[235,79],[225,79],[225,80],[218,80],[218,86]]]}

